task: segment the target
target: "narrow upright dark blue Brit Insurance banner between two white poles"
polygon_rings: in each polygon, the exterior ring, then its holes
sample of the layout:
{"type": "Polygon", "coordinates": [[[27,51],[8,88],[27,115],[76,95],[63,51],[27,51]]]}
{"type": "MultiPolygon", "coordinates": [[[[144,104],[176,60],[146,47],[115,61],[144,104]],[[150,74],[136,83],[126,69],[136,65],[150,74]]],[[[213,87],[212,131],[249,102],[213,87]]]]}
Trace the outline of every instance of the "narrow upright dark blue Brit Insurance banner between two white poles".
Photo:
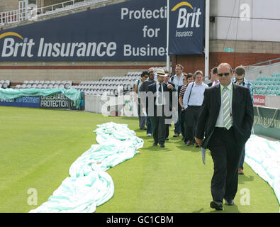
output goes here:
{"type": "Polygon", "coordinates": [[[205,0],[169,0],[169,55],[202,55],[205,0]]]}

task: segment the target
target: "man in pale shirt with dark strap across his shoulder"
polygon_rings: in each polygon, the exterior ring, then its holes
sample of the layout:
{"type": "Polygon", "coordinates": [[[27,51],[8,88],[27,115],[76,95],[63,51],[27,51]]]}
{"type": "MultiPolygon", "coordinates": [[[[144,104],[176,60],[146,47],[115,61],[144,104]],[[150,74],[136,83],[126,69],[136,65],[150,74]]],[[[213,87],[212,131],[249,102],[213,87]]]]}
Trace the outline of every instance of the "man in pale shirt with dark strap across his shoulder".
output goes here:
{"type": "MultiPolygon", "coordinates": [[[[200,70],[194,73],[195,82],[190,83],[186,88],[183,98],[185,111],[185,144],[187,146],[194,144],[194,133],[196,131],[196,121],[203,102],[203,94],[208,87],[202,82],[203,72],[200,70]]],[[[196,145],[197,146],[197,145],[196,145]]]]}

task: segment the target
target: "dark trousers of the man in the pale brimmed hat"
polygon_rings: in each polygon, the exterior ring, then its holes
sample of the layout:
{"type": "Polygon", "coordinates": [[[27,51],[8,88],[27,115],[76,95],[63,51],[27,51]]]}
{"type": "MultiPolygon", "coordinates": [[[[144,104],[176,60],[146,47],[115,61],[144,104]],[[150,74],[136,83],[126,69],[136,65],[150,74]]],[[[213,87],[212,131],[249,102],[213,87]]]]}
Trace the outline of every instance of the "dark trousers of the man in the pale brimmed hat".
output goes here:
{"type": "MultiPolygon", "coordinates": [[[[156,111],[154,111],[156,113],[156,111]]],[[[162,111],[163,113],[163,111],[162,111]]],[[[165,119],[166,116],[162,114],[162,116],[151,116],[152,123],[152,136],[154,138],[155,143],[164,144],[165,136],[166,136],[166,124],[165,119]]]]}

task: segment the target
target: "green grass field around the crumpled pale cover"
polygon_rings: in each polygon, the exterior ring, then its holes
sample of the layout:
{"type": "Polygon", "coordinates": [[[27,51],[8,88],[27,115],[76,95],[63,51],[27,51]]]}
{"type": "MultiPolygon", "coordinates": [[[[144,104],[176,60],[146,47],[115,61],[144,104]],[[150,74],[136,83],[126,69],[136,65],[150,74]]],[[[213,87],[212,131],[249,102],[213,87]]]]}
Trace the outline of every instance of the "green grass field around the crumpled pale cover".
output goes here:
{"type": "MultiPolygon", "coordinates": [[[[200,149],[173,138],[172,127],[166,147],[155,148],[152,138],[138,130],[138,118],[6,106],[0,106],[0,212],[28,212],[47,201],[69,176],[74,160],[96,144],[96,125],[110,121],[128,124],[145,143],[141,154],[107,170],[115,193],[96,213],[216,212],[209,206],[209,151],[203,165],[200,149]],[[37,206],[28,205],[28,189],[38,192],[37,206]]],[[[269,184],[245,164],[235,205],[218,212],[278,213],[279,203],[269,184]],[[242,202],[245,196],[249,204],[242,202]]]]}

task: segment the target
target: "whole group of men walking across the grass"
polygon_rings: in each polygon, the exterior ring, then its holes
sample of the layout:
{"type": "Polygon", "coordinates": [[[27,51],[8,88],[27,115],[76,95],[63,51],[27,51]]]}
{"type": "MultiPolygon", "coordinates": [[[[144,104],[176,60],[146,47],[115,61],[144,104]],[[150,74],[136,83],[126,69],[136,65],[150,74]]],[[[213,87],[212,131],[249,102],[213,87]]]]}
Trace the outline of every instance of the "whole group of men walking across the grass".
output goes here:
{"type": "Polygon", "coordinates": [[[167,120],[178,111],[173,136],[182,134],[187,146],[194,144],[211,151],[214,173],[210,206],[221,210],[223,199],[228,206],[234,204],[238,174],[244,173],[245,143],[254,119],[252,84],[244,78],[244,67],[237,67],[233,77],[228,63],[211,70],[211,84],[203,83],[203,72],[184,74],[183,70],[176,65],[176,74],[170,78],[169,72],[157,70],[155,74],[150,68],[142,73],[141,84],[135,82],[140,128],[153,136],[153,145],[164,148],[171,123],[167,120]],[[141,124],[142,117],[147,128],[141,124]]]}

